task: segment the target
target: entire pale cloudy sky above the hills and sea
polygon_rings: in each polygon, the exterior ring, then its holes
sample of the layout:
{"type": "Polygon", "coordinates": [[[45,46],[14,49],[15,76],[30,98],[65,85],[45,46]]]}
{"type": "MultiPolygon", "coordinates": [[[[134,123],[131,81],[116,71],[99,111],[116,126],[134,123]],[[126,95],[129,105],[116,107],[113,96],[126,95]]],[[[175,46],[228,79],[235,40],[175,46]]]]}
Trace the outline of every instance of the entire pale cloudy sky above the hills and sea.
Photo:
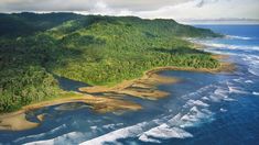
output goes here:
{"type": "Polygon", "coordinates": [[[259,0],[0,0],[0,12],[76,12],[145,19],[259,19],[259,0]]]}

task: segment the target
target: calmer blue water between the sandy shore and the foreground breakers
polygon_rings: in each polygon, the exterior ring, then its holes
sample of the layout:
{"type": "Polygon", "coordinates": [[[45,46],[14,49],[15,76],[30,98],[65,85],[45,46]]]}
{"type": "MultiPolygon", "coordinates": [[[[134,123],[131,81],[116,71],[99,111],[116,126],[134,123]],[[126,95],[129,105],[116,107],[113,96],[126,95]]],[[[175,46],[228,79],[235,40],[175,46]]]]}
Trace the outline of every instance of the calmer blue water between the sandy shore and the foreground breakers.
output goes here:
{"type": "MultiPolygon", "coordinates": [[[[37,135],[29,135],[29,137],[21,138],[19,137],[20,135],[22,135],[21,132],[12,132],[12,135],[18,135],[18,140],[15,140],[15,142],[13,143],[24,143],[24,141],[34,140],[34,137],[45,138],[48,135],[54,137],[58,134],[64,134],[64,131],[69,133],[73,132],[73,130],[77,130],[80,132],[96,132],[88,136],[90,138],[99,134],[108,133],[118,127],[133,125],[136,122],[145,121],[152,122],[152,125],[149,124],[148,126],[144,126],[147,129],[150,129],[157,124],[153,122],[153,118],[161,118],[162,120],[166,120],[166,118],[169,118],[168,114],[172,116],[177,115],[177,113],[181,112],[182,107],[186,105],[186,100],[182,96],[188,94],[211,83],[216,83],[219,81],[219,79],[225,80],[224,76],[226,76],[225,74],[219,75],[183,70],[164,70],[160,71],[159,75],[164,77],[176,76],[179,79],[181,79],[181,81],[179,81],[177,83],[159,85],[158,90],[169,92],[169,97],[159,99],[157,101],[125,96],[127,100],[140,104],[142,107],[142,110],[139,110],[137,112],[125,112],[123,110],[118,110],[110,113],[99,114],[93,112],[89,105],[79,102],[42,108],[26,113],[26,119],[32,122],[40,122],[37,116],[44,114],[44,121],[41,123],[41,125],[36,129],[23,131],[24,134],[37,135]],[[79,127],[82,125],[84,126],[84,129],[79,127]],[[104,129],[98,130],[98,127],[96,129],[95,126],[102,126],[104,129]],[[42,131],[46,132],[46,134],[44,133],[39,135],[39,132],[42,131]]],[[[231,75],[228,75],[228,77],[229,76],[231,75]]],[[[86,134],[84,134],[83,136],[85,135],[86,134]]]]}

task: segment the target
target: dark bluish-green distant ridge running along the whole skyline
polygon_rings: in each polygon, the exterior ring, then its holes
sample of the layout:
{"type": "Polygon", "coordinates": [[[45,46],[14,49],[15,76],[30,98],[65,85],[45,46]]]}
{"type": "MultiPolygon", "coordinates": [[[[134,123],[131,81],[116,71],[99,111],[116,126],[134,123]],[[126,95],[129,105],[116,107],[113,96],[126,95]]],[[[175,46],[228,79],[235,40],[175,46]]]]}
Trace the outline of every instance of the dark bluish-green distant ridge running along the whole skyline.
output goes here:
{"type": "MultiPolygon", "coordinates": [[[[32,35],[36,32],[46,31],[48,29],[55,27],[64,22],[71,20],[78,20],[79,26],[87,26],[91,23],[98,21],[115,22],[121,21],[126,23],[134,23],[139,26],[147,29],[162,29],[164,31],[174,32],[174,34],[183,35],[204,35],[204,36],[214,36],[208,30],[194,29],[187,25],[180,25],[173,20],[142,20],[136,16],[97,16],[97,15],[80,15],[75,13],[12,13],[6,14],[0,13],[0,36],[25,36],[32,35]],[[148,24],[148,26],[147,26],[148,24]],[[202,33],[201,33],[202,32],[202,33]]],[[[160,30],[161,31],[161,30],[160,30]]]]}

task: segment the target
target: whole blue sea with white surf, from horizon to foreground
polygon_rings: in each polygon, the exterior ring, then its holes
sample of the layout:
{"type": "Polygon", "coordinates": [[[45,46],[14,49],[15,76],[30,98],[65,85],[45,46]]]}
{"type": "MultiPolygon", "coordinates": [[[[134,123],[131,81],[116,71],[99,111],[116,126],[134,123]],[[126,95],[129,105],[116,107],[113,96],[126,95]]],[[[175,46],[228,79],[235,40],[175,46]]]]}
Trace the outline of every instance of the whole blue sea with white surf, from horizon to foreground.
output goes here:
{"type": "Polygon", "coordinates": [[[83,103],[44,108],[26,114],[36,122],[35,116],[45,113],[41,126],[22,132],[1,131],[0,143],[259,144],[259,25],[196,26],[228,35],[191,41],[206,45],[208,52],[228,54],[237,71],[230,75],[162,71],[161,75],[182,81],[159,86],[171,92],[159,101],[127,98],[142,104],[141,111],[96,114],[83,103]]]}

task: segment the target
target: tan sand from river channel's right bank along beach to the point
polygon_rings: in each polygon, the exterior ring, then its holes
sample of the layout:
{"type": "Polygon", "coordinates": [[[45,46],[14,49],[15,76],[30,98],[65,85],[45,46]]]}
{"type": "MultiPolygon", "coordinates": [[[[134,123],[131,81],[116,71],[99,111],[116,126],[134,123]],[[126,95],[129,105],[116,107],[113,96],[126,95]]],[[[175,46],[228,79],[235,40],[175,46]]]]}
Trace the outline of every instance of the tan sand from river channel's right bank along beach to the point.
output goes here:
{"type": "MultiPolygon", "coordinates": [[[[216,59],[225,59],[227,56],[213,55],[216,59]]],[[[82,92],[86,93],[115,93],[126,94],[131,97],[139,97],[143,99],[157,100],[166,97],[169,93],[158,90],[155,87],[162,83],[176,83],[181,81],[177,78],[164,77],[158,75],[162,70],[185,70],[185,71],[201,71],[201,72],[233,72],[235,66],[229,63],[220,63],[220,66],[215,69],[207,68],[193,68],[193,67],[157,67],[152,70],[145,71],[143,77],[133,80],[125,80],[115,87],[94,86],[79,88],[82,92]]]]}

